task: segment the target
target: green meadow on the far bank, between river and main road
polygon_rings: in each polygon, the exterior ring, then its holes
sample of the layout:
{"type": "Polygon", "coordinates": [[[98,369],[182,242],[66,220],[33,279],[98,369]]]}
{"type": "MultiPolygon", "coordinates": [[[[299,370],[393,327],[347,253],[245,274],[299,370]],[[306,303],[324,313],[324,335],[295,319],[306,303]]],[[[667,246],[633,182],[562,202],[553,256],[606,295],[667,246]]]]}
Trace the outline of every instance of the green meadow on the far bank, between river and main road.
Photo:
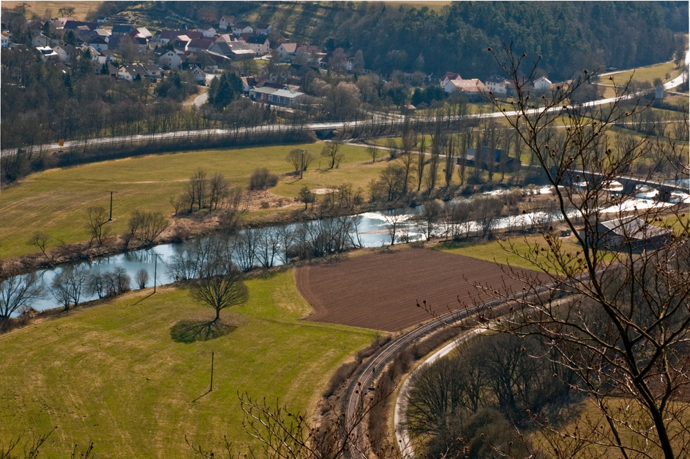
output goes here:
{"type": "MultiPolygon", "coordinates": [[[[57,247],[60,240],[88,241],[86,209],[103,206],[108,210],[110,190],[117,191],[112,205],[113,221],[108,223],[111,234],[126,232],[130,214],[135,210],[172,215],[170,197],[181,194],[184,182],[199,167],[209,176],[220,172],[231,186],[241,187],[248,185],[256,167],[268,167],[281,176],[270,192],[294,198],[303,186],[313,190],[351,183],[354,190],[366,190],[369,181],[377,178],[387,165],[385,161],[371,164],[366,149],[344,145],[345,159],[340,167],[327,170],[328,159],[319,156],[322,147],[322,143],[315,143],[137,156],[32,174],[0,194],[0,257],[37,252],[36,247],[26,245],[37,230],[50,236],[49,248],[57,247]],[[285,161],[293,148],[304,148],[315,156],[302,180],[284,175],[293,169],[285,161]]],[[[295,208],[300,205],[295,203],[295,208]]]]}

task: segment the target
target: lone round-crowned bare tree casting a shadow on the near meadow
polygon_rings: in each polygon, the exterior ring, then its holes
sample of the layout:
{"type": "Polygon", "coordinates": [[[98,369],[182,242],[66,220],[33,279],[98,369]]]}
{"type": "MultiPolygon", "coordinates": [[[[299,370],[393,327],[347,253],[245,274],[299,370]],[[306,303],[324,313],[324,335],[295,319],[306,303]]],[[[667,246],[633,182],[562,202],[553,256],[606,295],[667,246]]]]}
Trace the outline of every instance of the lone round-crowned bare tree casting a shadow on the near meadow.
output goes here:
{"type": "Polygon", "coordinates": [[[191,286],[192,298],[215,309],[215,323],[222,309],[246,302],[249,290],[243,278],[242,269],[234,263],[215,258],[201,267],[201,278],[191,286]]]}

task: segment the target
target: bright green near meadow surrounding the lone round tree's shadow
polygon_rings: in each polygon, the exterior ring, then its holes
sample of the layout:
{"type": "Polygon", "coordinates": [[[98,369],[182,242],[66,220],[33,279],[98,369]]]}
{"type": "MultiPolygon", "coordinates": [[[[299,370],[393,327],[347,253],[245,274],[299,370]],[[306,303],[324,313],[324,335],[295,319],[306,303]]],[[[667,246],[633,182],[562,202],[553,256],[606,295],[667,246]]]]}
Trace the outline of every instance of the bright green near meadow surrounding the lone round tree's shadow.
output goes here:
{"type": "Polygon", "coordinates": [[[374,332],[300,321],[311,307],[293,270],[247,281],[248,303],[221,312],[237,328],[215,340],[178,343],[180,320],[208,320],[213,309],[186,289],[150,289],[0,336],[0,438],[52,433],[46,457],[92,440],[98,456],[192,456],[185,436],[218,449],[223,436],[242,449],[237,393],[290,409],[313,409],[332,374],[374,332]],[[213,391],[208,390],[215,351],[213,391]]]}

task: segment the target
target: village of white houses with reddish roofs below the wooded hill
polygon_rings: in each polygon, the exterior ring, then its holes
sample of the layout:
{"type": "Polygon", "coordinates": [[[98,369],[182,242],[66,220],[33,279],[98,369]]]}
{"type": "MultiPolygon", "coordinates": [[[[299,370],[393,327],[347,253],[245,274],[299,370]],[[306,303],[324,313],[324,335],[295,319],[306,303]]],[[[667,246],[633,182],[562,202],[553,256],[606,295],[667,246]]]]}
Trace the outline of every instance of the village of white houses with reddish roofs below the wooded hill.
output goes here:
{"type": "MultiPolygon", "coordinates": [[[[170,72],[183,72],[197,84],[208,85],[215,75],[239,64],[244,96],[287,108],[311,97],[300,92],[299,79],[291,77],[302,68],[354,75],[371,72],[364,67],[361,52],[348,56],[342,48],[324,52],[317,45],[286,41],[272,45],[268,39],[272,25],[237,21],[230,14],[221,17],[217,24],[182,30],[148,30],[132,23],[124,14],[99,17],[96,22],[77,21],[73,17],[30,19],[26,27],[32,37],[32,52],[63,74],[69,74],[77,62],[86,59],[92,63],[95,74],[107,74],[114,79],[149,79],[155,83],[170,72]],[[271,71],[266,68],[268,62],[280,65],[271,71]]],[[[26,50],[28,46],[15,41],[3,23],[2,48],[26,50]]],[[[467,101],[482,101],[489,92],[503,98],[514,92],[513,83],[502,76],[480,81],[449,71],[440,76],[424,74],[420,81],[419,75],[403,75],[413,85],[435,84],[440,86],[443,96],[462,94],[467,101]]],[[[551,88],[551,81],[540,76],[531,87],[546,91],[551,88]]],[[[412,99],[414,103],[415,98],[412,99]]],[[[415,110],[413,103],[400,100],[399,105],[405,111],[415,110]]]]}

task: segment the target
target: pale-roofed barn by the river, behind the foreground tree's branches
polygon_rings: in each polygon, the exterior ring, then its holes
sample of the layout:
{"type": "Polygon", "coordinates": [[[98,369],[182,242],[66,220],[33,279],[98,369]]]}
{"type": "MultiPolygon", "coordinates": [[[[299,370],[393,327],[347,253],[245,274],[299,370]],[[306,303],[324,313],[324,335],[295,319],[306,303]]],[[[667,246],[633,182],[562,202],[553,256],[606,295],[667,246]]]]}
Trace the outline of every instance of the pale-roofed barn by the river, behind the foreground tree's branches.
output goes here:
{"type": "Polygon", "coordinates": [[[631,247],[639,251],[659,249],[673,238],[671,230],[649,225],[635,216],[598,222],[593,234],[589,234],[589,241],[584,230],[580,230],[580,236],[590,247],[609,250],[631,247]]]}

